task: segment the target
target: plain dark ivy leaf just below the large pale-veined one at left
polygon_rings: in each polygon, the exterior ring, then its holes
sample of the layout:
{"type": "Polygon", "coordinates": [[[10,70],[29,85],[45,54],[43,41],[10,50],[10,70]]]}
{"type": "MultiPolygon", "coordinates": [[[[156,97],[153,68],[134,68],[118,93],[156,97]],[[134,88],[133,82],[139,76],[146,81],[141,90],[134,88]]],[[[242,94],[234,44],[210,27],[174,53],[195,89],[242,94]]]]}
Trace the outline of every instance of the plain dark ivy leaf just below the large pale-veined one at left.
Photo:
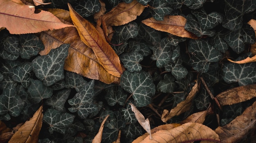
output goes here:
{"type": "Polygon", "coordinates": [[[41,100],[52,96],[52,88],[43,85],[40,80],[30,79],[30,85],[27,88],[29,101],[33,104],[38,104],[41,100]]]}

